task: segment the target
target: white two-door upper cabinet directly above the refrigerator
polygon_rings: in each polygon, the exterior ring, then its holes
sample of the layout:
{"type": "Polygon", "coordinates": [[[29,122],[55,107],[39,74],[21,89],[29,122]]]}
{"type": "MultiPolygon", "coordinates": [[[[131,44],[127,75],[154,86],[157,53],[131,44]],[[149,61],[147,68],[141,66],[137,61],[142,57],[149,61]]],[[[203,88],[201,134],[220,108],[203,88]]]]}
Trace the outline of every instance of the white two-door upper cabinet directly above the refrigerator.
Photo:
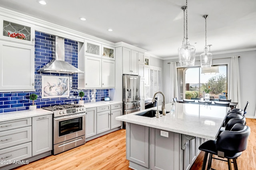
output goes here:
{"type": "Polygon", "coordinates": [[[123,74],[138,75],[138,51],[123,47],[123,74]]]}

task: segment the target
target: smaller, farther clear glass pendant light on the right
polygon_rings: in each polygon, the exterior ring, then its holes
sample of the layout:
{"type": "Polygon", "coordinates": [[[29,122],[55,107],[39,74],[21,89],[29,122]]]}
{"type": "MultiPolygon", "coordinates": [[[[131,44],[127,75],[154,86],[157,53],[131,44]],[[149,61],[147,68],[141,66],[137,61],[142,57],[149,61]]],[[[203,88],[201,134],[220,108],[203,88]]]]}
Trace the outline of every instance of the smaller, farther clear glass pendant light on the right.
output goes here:
{"type": "Polygon", "coordinates": [[[205,19],[205,46],[204,46],[204,53],[200,55],[200,62],[201,67],[211,67],[212,66],[212,53],[208,52],[207,45],[206,45],[206,18],[208,15],[204,15],[203,18],[205,19]]]}

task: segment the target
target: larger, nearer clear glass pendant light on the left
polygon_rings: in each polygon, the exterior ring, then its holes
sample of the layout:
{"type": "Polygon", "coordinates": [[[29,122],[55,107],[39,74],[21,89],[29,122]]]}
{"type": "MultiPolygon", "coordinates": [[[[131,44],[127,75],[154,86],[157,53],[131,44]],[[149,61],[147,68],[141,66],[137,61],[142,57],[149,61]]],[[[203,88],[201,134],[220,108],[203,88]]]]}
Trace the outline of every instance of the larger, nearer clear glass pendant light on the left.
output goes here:
{"type": "Polygon", "coordinates": [[[196,48],[194,45],[190,45],[188,39],[188,2],[186,0],[186,6],[182,6],[181,9],[184,12],[184,38],[182,46],[178,48],[178,55],[180,66],[194,66],[196,59],[196,48]],[[185,10],[186,10],[186,38],[185,38],[185,10]]]}

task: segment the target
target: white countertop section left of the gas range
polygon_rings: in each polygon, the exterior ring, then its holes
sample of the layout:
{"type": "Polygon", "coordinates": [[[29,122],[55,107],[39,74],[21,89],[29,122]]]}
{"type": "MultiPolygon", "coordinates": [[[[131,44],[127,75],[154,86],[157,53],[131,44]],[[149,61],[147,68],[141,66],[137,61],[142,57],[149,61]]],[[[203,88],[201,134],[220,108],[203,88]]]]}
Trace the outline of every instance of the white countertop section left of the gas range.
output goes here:
{"type": "Polygon", "coordinates": [[[11,111],[7,113],[0,113],[0,122],[15,120],[15,119],[22,119],[27,117],[49,115],[49,114],[53,114],[53,112],[45,109],[36,109],[34,111],[30,111],[30,110],[11,111]]]}

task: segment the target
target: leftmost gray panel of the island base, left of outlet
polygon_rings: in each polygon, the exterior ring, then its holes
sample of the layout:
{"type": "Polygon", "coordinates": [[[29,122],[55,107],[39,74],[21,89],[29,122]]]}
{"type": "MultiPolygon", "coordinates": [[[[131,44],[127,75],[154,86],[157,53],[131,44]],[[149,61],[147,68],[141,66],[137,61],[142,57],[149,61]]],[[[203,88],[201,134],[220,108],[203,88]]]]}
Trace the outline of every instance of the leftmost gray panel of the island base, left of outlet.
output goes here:
{"type": "Polygon", "coordinates": [[[126,159],[149,168],[149,127],[126,122],[126,159]]]}

